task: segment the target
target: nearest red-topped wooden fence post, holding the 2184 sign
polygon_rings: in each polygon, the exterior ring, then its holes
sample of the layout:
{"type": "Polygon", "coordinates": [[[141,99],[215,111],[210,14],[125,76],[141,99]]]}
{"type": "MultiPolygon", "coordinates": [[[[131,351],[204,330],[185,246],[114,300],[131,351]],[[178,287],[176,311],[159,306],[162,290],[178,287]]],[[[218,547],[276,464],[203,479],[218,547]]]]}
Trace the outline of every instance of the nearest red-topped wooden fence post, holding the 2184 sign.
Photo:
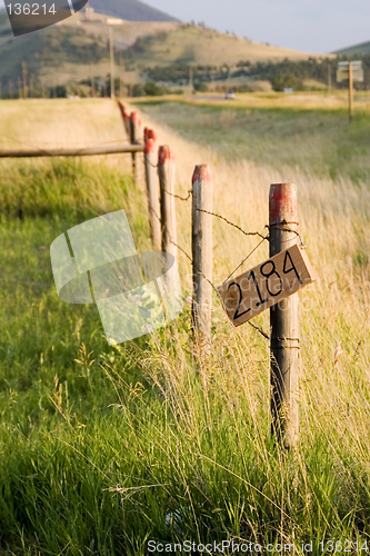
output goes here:
{"type": "MultiPolygon", "coordinates": [[[[273,257],[297,242],[296,183],[272,183],[269,209],[270,257],[273,257]]],[[[270,308],[270,322],[272,434],[287,448],[293,448],[299,433],[298,294],[270,308]]]]}

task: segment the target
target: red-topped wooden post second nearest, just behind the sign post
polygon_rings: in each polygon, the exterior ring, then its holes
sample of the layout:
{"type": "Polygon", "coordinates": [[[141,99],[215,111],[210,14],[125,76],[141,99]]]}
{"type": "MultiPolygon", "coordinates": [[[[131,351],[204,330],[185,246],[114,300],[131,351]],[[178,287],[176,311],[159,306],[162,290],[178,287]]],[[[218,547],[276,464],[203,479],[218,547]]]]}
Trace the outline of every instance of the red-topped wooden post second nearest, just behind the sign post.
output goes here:
{"type": "Polygon", "coordinates": [[[207,165],[192,176],[192,320],[202,341],[211,338],[212,309],[212,199],[213,182],[207,165]]]}

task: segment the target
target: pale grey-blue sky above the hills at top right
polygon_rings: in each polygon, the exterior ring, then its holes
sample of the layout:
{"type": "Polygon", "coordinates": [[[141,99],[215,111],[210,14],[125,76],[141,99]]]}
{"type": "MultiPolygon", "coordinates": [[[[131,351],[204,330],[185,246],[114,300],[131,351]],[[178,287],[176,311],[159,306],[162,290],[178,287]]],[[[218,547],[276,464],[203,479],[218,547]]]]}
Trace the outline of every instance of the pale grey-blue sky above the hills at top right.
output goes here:
{"type": "Polygon", "coordinates": [[[204,21],[220,31],[234,31],[239,37],[307,52],[330,52],[370,41],[370,0],[147,0],[147,3],[183,21],[204,21]]]}

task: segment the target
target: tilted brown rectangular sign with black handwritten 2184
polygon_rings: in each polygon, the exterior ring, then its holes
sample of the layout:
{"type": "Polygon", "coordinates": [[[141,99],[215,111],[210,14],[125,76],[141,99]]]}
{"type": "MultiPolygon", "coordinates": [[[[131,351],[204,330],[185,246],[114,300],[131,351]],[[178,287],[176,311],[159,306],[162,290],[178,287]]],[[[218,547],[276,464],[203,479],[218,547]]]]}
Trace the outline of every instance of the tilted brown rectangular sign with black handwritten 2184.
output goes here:
{"type": "Polygon", "coordinates": [[[317,279],[306,251],[294,245],[218,288],[234,326],[256,317],[317,279]]]}

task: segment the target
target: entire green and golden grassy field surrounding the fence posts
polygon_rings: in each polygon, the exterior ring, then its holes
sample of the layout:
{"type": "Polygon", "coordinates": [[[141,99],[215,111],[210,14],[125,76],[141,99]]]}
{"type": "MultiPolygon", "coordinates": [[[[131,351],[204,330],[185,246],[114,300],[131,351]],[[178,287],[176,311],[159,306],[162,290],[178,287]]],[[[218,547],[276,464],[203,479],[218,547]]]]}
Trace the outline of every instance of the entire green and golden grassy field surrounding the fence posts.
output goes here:
{"type": "MultiPolygon", "coordinates": [[[[49,246],[71,226],[124,208],[139,249],[150,248],[143,182],[133,185],[129,160],[0,162],[1,555],[144,556],[150,539],[370,548],[368,115],[349,128],[343,110],[274,102],[140,109],[174,151],[178,192],[196,163],[210,163],[216,212],[246,230],[263,232],[271,182],[298,183],[319,280],[300,294],[301,434],[291,454],[269,435],[269,342],[229,326],[217,299],[213,349],[200,366],[187,304],[166,329],[109,348],[94,307],[58,299],[49,246]]],[[[2,147],[122,140],[109,101],[2,101],[0,115],[2,147]]],[[[177,208],[178,241],[191,252],[190,201],[177,208]]],[[[219,219],[213,234],[220,284],[256,239],[219,219]]],[[[243,270],[267,254],[264,242],[243,270]]],[[[182,254],[180,270],[187,296],[182,254]]],[[[268,314],[254,320],[268,331],[268,314]]]]}

